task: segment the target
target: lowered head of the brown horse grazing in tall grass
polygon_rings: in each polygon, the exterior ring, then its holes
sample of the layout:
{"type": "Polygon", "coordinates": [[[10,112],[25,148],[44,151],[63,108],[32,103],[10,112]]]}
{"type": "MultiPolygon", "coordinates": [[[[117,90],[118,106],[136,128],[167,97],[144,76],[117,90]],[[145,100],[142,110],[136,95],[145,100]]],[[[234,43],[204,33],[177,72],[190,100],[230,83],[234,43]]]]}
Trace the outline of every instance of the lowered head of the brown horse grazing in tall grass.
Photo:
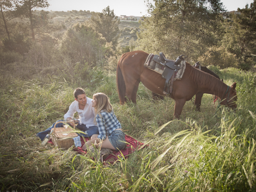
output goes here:
{"type": "Polygon", "coordinates": [[[226,105],[232,109],[236,109],[236,82],[232,84],[232,86],[228,86],[226,93],[221,99],[220,104],[226,105]]]}

